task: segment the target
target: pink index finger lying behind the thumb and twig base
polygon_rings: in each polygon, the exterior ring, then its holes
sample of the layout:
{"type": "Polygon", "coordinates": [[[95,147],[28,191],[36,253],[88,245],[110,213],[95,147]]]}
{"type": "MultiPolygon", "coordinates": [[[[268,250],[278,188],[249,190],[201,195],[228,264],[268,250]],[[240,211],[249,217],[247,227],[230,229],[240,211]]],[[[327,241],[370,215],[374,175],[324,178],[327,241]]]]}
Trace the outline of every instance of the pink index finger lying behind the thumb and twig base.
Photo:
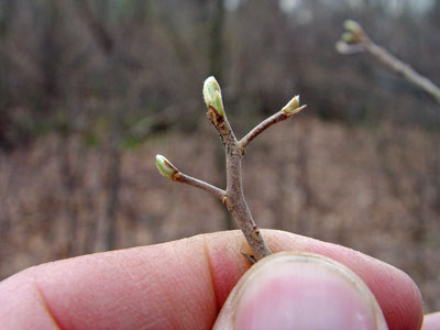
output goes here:
{"type": "MultiPolygon", "coordinates": [[[[262,231],[277,251],[307,251],[350,267],[375,295],[389,329],[420,329],[422,302],[404,272],[353,250],[262,231]]],[[[239,231],[84,255],[0,283],[3,329],[210,329],[249,268],[239,231]]],[[[248,251],[249,252],[249,251],[248,251]]]]}

